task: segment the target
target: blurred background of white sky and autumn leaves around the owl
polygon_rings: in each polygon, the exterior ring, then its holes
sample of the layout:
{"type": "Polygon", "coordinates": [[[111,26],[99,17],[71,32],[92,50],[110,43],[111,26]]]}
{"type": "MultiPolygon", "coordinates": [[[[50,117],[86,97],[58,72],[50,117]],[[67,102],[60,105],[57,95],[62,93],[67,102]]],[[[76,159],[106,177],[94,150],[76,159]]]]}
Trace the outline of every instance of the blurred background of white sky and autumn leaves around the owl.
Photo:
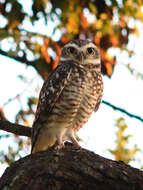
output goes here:
{"type": "MultiPolygon", "coordinates": [[[[100,48],[103,102],[79,131],[101,156],[143,167],[143,1],[0,0],[0,120],[32,126],[40,89],[72,39],[100,48]]],[[[0,130],[0,175],[30,139],[0,130]]]]}

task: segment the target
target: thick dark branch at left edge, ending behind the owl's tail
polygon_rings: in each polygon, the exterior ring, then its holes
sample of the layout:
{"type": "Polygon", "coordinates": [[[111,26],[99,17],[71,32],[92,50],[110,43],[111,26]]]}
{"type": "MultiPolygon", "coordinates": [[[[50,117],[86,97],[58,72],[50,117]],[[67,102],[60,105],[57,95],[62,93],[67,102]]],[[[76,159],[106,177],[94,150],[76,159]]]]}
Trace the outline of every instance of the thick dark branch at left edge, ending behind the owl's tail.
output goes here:
{"type": "Polygon", "coordinates": [[[0,120],[0,130],[7,131],[10,133],[14,133],[19,136],[27,136],[31,137],[32,128],[25,127],[19,124],[13,124],[9,121],[0,120]]]}

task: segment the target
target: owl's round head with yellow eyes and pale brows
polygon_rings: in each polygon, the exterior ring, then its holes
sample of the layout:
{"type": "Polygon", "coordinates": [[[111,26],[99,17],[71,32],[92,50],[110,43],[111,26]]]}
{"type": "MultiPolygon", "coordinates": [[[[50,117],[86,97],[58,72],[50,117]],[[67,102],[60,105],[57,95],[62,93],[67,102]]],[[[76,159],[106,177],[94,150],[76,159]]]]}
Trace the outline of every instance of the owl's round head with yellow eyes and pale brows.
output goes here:
{"type": "Polygon", "coordinates": [[[90,40],[72,40],[67,43],[62,49],[60,61],[73,61],[81,67],[101,66],[99,49],[90,40]]]}

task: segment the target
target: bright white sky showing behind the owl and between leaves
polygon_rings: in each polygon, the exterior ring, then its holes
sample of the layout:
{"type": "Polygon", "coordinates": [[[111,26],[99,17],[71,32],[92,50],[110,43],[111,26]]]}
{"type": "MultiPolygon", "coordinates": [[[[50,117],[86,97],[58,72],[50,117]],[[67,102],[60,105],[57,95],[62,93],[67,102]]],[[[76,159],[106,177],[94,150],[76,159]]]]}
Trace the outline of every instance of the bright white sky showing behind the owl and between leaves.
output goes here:
{"type": "MultiPolygon", "coordinates": [[[[30,26],[28,22],[25,23],[25,25],[27,28],[35,30],[32,29],[32,26],[30,26]]],[[[37,24],[38,29],[40,25],[40,23],[37,24]]],[[[109,51],[111,55],[117,56],[118,64],[115,66],[111,79],[107,76],[103,76],[103,100],[143,117],[143,80],[140,77],[137,79],[132,75],[126,66],[130,63],[136,71],[143,74],[143,24],[137,23],[137,25],[140,28],[140,37],[131,36],[128,45],[130,49],[135,50],[135,56],[129,58],[125,52],[121,53],[118,48],[109,51]]],[[[53,38],[56,38],[56,36],[53,38]]],[[[15,121],[15,115],[21,106],[23,106],[24,109],[27,108],[27,97],[31,95],[38,97],[39,92],[35,92],[35,88],[41,88],[42,84],[43,80],[38,76],[33,67],[27,67],[12,59],[0,56],[0,107],[3,107],[9,98],[15,97],[19,93],[21,94],[20,102],[18,99],[15,99],[4,106],[5,115],[9,121],[15,121]],[[23,75],[27,83],[21,81],[18,77],[19,75],[23,75]]],[[[126,119],[128,128],[125,133],[133,135],[128,146],[132,148],[137,144],[138,148],[143,150],[143,123],[118,111],[114,111],[104,104],[101,104],[98,112],[93,113],[88,123],[79,131],[79,137],[83,140],[81,146],[106,158],[114,159],[107,150],[115,148],[115,134],[117,132],[115,123],[119,117],[126,119]]],[[[31,124],[33,119],[34,118],[31,118],[31,124]]],[[[7,151],[9,144],[15,146],[13,138],[10,138],[8,141],[7,139],[0,139],[0,147],[2,147],[4,151],[7,151]]],[[[30,153],[30,150],[27,153],[30,153]]],[[[23,156],[25,155],[26,153],[23,153],[23,156]]],[[[136,155],[136,161],[130,164],[139,168],[143,165],[143,161],[141,161],[142,158],[143,152],[139,152],[136,155]]],[[[6,167],[6,165],[0,164],[0,175],[6,167]]]]}

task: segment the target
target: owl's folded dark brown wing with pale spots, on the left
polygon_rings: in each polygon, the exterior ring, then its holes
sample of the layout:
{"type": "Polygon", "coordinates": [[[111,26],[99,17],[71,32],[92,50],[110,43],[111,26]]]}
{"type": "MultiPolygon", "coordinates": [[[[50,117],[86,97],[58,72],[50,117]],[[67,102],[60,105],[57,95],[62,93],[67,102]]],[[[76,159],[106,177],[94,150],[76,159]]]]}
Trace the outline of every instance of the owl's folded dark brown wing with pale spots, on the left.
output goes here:
{"type": "Polygon", "coordinates": [[[35,120],[32,131],[32,149],[35,145],[41,126],[50,115],[58,97],[68,82],[68,79],[73,71],[74,65],[71,63],[63,63],[59,65],[44,82],[40,92],[35,120]]]}

